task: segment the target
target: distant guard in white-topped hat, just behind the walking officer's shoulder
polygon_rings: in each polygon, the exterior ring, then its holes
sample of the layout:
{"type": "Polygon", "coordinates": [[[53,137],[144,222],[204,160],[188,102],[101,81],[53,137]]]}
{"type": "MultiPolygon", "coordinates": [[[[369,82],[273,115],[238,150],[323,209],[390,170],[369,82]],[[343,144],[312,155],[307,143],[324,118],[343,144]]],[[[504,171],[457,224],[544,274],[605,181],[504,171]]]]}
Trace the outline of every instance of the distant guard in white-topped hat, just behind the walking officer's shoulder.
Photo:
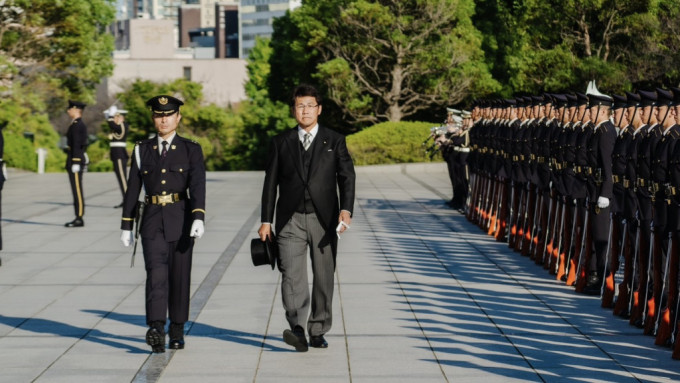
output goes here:
{"type": "MultiPolygon", "coordinates": [[[[122,198],[125,198],[125,189],[127,189],[127,161],[128,153],[126,149],[127,136],[130,131],[130,125],[125,122],[126,110],[118,109],[115,105],[111,106],[104,113],[107,115],[106,122],[109,124],[109,146],[111,147],[109,155],[111,162],[113,162],[113,172],[118,179],[118,186],[122,198]]],[[[121,202],[115,208],[123,207],[121,202]]]]}

